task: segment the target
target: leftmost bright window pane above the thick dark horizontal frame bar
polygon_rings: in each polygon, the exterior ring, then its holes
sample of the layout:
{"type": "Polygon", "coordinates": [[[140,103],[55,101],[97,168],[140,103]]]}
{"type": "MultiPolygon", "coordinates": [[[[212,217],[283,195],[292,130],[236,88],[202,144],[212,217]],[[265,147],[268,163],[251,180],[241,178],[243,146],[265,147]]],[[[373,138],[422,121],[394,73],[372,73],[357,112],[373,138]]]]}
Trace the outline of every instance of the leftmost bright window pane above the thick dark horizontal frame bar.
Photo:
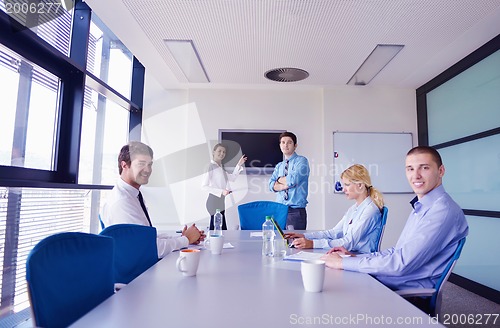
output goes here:
{"type": "Polygon", "coordinates": [[[0,165],[52,170],[59,79],[2,45],[0,57],[0,165]]]}

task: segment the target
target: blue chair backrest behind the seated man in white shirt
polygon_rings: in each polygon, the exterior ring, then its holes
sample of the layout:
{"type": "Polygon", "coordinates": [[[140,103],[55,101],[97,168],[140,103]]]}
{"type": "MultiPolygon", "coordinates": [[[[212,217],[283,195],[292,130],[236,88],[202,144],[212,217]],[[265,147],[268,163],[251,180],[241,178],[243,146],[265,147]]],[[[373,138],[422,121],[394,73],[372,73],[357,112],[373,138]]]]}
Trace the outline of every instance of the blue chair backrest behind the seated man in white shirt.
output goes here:
{"type": "Polygon", "coordinates": [[[158,262],[156,228],[137,224],[108,226],[100,235],[112,237],[115,244],[115,283],[128,284],[158,262]]]}

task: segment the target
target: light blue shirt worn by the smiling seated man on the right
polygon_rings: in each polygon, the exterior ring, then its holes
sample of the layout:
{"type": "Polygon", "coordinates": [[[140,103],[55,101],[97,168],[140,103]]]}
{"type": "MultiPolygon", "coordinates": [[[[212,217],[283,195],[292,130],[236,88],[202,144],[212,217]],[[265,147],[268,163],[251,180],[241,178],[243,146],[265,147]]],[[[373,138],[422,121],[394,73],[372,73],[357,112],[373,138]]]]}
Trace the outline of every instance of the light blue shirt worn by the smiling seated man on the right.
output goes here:
{"type": "Polygon", "coordinates": [[[434,287],[469,227],[442,185],[416,200],[395,247],[344,258],[344,270],[372,274],[392,289],[434,287]]]}

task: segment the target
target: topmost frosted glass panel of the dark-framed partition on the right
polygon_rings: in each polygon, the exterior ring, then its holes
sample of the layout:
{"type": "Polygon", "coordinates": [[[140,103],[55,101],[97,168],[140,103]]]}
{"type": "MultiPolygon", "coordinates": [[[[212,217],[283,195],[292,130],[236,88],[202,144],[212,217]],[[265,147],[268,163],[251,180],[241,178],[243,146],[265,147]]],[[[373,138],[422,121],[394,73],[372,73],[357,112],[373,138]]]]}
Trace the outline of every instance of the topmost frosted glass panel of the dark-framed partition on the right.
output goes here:
{"type": "Polygon", "coordinates": [[[429,145],[500,126],[500,50],[427,94],[429,145]]]}

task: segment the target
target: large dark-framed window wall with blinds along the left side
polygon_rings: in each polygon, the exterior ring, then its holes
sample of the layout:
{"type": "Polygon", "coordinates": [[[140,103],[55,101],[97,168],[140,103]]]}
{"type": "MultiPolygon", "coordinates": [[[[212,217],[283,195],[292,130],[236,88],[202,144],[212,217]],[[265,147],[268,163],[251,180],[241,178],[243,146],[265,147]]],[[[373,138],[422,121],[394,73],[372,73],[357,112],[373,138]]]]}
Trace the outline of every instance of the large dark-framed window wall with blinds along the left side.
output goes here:
{"type": "Polygon", "coordinates": [[[142,97],[131,98],[142,94],[144,68],[97,17],[91,27],[90,8],[76,2],[78,17],[88,18],[80,24],[72,26],[69,10],[37,17],[43,22],[23,30],[18,22],[33,17],[12,20],[0,1],[2,327],[30,316],[25,263],[38,241],[63,231],[98,232],[130,124],[140,136],[142,97]],[[81,53],[87,48],[88,57],[81,53]]]}

